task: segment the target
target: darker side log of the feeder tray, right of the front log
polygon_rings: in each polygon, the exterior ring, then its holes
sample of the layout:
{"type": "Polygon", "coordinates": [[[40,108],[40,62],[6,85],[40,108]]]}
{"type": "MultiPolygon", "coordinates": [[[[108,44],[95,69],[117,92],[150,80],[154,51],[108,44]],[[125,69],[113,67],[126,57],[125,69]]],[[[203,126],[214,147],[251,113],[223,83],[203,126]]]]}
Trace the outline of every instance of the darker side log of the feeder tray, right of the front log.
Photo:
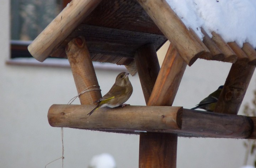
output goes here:
{"type": "Polygon", "coordinates": [[[182,131],[202,137],[248,138],[253,129],[246,116],[183,109],[182,131]]]}

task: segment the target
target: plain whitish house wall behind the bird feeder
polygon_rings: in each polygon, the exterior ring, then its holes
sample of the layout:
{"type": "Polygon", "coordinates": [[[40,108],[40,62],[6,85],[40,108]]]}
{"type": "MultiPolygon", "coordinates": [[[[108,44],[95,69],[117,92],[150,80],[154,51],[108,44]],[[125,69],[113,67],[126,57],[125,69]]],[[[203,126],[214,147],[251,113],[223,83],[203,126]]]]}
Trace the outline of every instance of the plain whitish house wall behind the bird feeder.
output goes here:
{"type": "MultiPolygon", "coordinates": [[[[0,167],[44,167],[62,155],[60,128],[49,126],[48,109],[52,104],[68,103],[76,88],[70,68],[6,65],[10,55],[9,7],[8,1],[1,2],[0,167]]],[[[225,82],[230,66],[197,60],[187,67],[174,105],[192,108],[225,82]]],[[[118,73],[96,70],[102,94],[110,89],[118,73]]],[[[130,80],[134,93],[127,103],[145,105],[138,75],[130,80]]],[[[251,101],[255,81],[254,74],[243,104],[251,101]]],[[[92,156],[102,152],[113,155],[119,168],[138,167],[137,135],[64,128],[64,147],[64,167],[87,167],[92,156]]],[[[244,155],[243,140],[178,138],[178,168],[239,168],[244,155]]],[[[61,160],[50,167],[61,167],[61,160]]]]}

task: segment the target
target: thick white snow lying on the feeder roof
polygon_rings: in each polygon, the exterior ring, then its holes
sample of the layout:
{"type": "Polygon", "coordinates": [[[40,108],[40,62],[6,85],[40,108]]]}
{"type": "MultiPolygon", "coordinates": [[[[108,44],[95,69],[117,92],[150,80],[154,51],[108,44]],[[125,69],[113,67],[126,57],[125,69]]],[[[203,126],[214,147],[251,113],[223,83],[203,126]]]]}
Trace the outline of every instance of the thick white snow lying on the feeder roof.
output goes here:
{"type": "Polygon", "coordinates": [[[181,18],[203,39],[201,27],[212,37],[215,31],[225,42],[242,47],[249,42],[256,48],[255,0],[166,0],[181,18]]]}

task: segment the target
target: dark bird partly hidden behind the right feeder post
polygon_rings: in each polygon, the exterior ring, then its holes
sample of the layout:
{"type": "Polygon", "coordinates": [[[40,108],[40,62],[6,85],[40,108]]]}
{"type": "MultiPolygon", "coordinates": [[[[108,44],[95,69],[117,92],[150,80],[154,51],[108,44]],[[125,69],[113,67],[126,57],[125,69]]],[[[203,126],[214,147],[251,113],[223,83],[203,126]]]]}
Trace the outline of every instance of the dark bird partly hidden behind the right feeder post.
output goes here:
{"type": "Polygon", "coordinates": [[[216,91],[209,94],[208,97],[204,98],[199,104],[197,104],[196,107],[192,108],[194,109],[204,109],[206,111],[213,111],[216,107],[216,104],[219,99],[219,95],[222,91],[223,85],[220,86],[216,91]]]}

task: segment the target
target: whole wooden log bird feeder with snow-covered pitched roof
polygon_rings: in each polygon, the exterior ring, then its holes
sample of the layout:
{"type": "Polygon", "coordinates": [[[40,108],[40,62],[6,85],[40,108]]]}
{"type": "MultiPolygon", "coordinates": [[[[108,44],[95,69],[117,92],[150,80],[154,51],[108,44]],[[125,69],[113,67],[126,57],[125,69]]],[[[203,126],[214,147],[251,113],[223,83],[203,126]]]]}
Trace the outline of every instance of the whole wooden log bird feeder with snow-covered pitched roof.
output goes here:
{"type": "Polygon", "coordinates": [[[91,86],[96,90],[81,94],[81,105],[52,105],[49,124],[140,134],[139,168],[175,168],[178,136],[256,139],[255,117],[237,115],[256,51],[249,43],[240,48],[215,32],[212,38],[202,33],[203,42],[165,0],[71,1],[28,50],[40,62],[67,57],[78,93],[91,86]],[[156,51],[167,40],[171,44],[160,69],[156,51]],[[186,66],[197,58],[233,64],[215,112],[171,106],[186,66]],[[86,115],[101,98],[92,61],[126,65],[132,75],[138,72],[147,106],[86,115]]]}

